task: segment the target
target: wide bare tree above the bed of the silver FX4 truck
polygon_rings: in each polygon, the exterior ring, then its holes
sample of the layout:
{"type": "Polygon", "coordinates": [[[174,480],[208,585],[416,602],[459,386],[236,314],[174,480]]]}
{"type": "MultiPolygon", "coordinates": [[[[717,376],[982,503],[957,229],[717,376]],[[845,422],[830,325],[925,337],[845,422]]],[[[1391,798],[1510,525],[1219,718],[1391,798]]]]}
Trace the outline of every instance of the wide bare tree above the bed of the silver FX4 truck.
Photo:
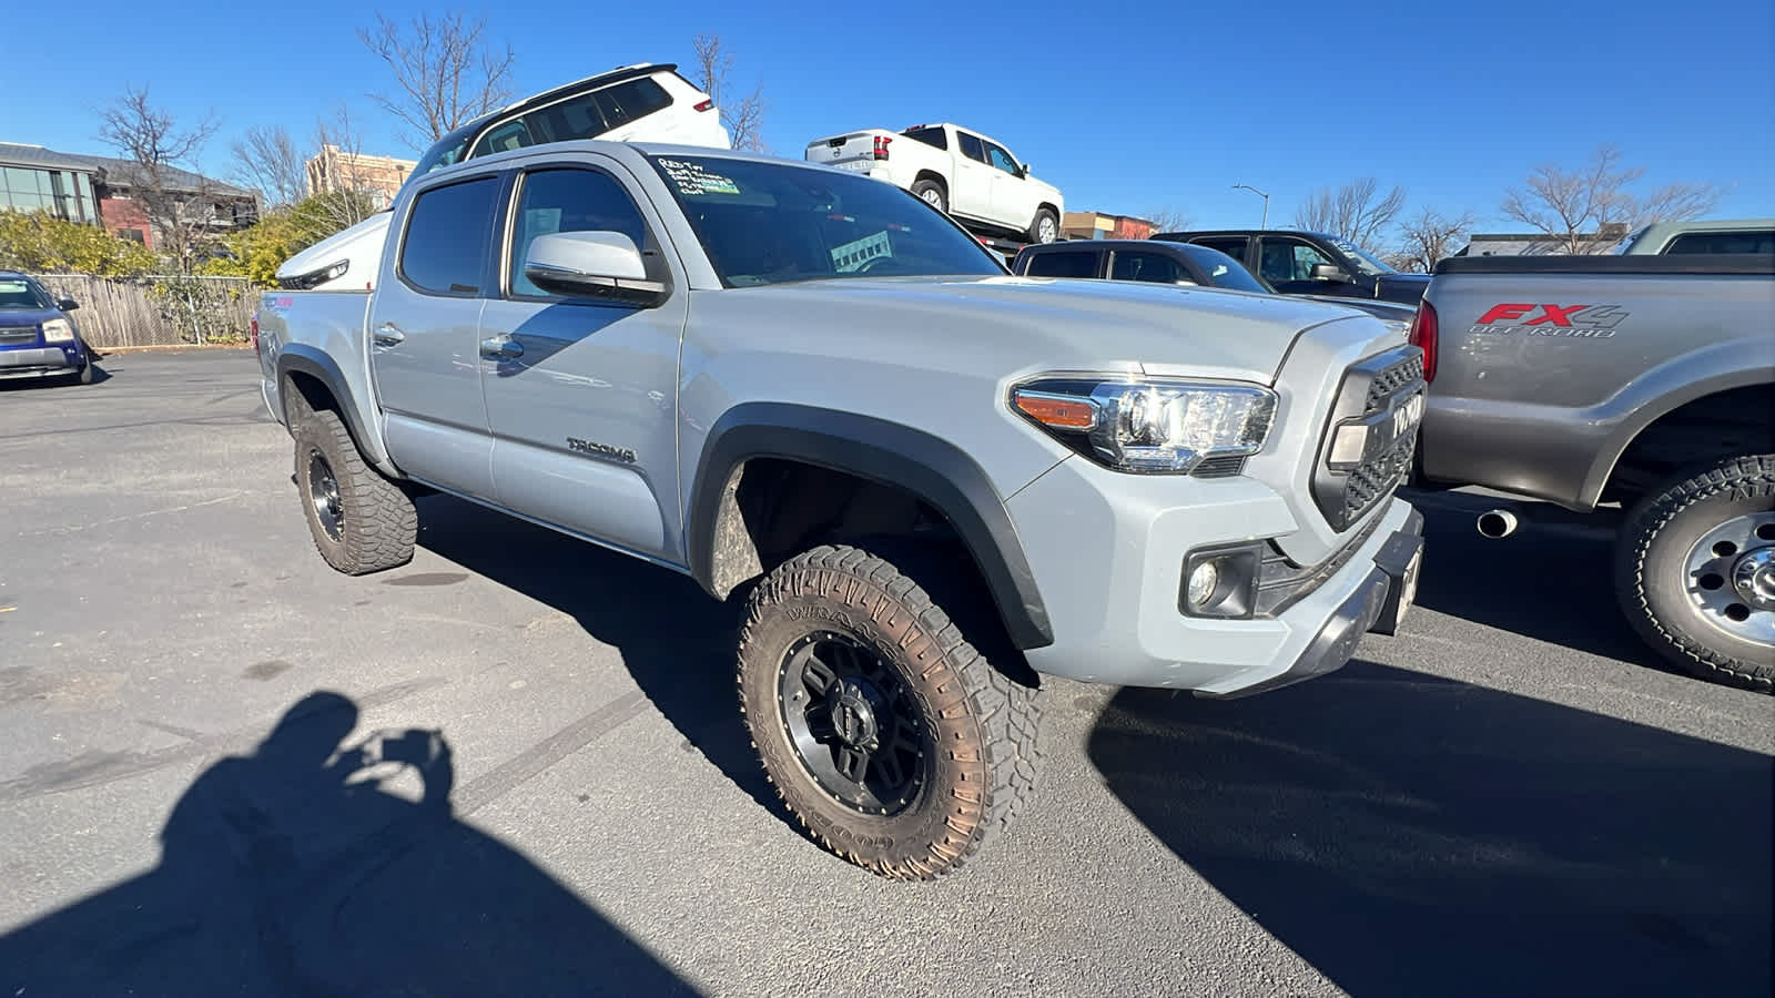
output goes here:
{"type": "Polygon", "coordinates": [[[1644,176],[1644,167],[1622,165],[1619,147],[1598,146],[1574,170],[1535,167],[1523,186],[1503,195],[1502,210],[1546,233],[1562,250],[1590,254],[1640,226],[1693,218],[1720,201],[1720,190],[1706,183],[1672,183],[1637,197],[1629,188],[1644,176]]]}

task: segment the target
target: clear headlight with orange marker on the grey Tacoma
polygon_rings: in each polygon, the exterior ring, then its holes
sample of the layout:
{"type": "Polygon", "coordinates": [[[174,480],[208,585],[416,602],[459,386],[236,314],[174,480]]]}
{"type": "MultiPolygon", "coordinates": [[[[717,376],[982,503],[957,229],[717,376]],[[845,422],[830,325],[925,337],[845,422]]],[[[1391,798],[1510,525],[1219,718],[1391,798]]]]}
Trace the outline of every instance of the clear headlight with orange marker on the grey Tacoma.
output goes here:
{"type": "Polygon", "coordinates": [[[1116,471],[1237,474],[1264,449],[1276,392],[1173,378],[1044,376],[1010,405],[1054,439],[1116,471]]]}

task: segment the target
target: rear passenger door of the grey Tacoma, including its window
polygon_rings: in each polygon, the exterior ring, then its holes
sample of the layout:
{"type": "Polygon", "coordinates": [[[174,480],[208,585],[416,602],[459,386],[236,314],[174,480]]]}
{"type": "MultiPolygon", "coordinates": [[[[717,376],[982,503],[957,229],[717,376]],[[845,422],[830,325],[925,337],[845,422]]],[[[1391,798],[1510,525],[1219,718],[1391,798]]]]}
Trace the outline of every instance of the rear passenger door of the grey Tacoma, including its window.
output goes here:
{"type": "Polygon", "coordinates": [[[376,288],[369,316],[389,456],[414,478],[486,499],[492,437],[477,343],[502,186],[499,174],[483,174],[419,194],[399,234],[396,279],[376,288]]]}

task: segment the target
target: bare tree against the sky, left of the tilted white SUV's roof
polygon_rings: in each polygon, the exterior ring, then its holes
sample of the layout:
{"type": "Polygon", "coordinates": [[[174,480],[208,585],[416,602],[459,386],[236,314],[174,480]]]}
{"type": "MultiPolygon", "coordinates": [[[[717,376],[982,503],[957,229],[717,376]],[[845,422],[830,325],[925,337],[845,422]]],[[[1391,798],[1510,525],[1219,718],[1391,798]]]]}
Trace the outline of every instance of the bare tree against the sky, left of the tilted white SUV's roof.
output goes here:
{"type": "Polygon", "coordinates": [[[373,28],[357,30],[399,87],[371,99],[412,131],[412,147],[424,149],[511,98],[511,46],[492,46],[485,32],[486,20],[469,21],[454,11],[421,12],[405,25],[378,11],[373,28]]]}

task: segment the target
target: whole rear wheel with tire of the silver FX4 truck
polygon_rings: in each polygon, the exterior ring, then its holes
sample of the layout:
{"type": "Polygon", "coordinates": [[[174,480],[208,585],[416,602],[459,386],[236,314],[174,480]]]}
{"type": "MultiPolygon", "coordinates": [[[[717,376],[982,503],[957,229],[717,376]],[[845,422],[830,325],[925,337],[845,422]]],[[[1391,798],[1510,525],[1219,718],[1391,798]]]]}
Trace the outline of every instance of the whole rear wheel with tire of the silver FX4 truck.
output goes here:
{"type": "Polygon", "coordinates": [[[1731,458],[1653,490],[1621,533],[1617,593],[1679,668],[1775,687],[1775,455],[1731,458]]]}

